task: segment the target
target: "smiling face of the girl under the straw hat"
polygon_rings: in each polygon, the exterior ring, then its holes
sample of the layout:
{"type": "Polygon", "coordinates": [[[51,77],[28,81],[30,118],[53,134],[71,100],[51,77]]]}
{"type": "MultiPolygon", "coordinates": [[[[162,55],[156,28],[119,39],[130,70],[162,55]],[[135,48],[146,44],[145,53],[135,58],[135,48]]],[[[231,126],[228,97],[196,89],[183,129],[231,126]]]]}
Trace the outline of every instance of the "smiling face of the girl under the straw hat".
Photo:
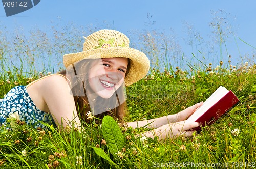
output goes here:
{"type": "Polygon", "coordinates": [[[110,98],[124,82],[127,58],[102,58],[92,63],[89,70],[90,93],[110,98]]]}

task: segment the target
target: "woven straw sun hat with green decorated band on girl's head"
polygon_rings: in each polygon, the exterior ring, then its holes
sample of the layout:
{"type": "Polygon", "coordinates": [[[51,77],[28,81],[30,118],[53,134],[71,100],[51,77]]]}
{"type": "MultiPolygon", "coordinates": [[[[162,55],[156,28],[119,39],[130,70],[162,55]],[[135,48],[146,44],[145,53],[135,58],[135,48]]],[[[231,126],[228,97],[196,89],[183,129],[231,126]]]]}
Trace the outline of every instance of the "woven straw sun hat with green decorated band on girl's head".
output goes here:
{"type": "Polygon", "coordinates": [[[129,58],[131,62],[131,68],[124,79],[126,86],[139,81],[148,73],[150,60],[143,52],[130,48],[129,38],[123,33],[115,30],[100,30],[84,39],[86,40],[82,52],[63,56],[63,64],[66,68],[82,59],[123,57],[129,58]]]}

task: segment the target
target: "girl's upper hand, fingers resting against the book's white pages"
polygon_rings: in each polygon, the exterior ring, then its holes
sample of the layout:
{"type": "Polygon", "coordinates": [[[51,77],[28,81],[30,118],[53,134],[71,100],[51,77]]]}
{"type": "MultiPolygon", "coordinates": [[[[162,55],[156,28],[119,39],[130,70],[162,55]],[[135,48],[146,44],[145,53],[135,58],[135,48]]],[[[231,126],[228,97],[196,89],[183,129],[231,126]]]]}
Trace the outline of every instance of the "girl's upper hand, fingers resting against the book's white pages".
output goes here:
{"type": "Polygon", "coordinates": [[[190,106],[180,112],[178,112],[175,116],[176,118],[173,120],[173,122],[179,122],[179,121],[184,121],[187,118],[189,118],[196,110],[199,108],[203,102],[197,103],[193,106],[190,106]]]}

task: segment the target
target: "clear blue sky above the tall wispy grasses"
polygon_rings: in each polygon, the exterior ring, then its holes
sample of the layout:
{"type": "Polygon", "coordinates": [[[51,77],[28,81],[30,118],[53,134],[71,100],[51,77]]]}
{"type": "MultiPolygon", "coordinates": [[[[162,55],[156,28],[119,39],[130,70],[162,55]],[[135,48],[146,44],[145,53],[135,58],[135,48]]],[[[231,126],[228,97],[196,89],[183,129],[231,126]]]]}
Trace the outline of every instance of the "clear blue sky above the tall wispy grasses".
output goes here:
{"type": "MultiPolygon", "coordinates": [[[[240,55],[252,55],[253,48],[246,43],[256,46],[256,1],[82,1],[82,0],[41,0],[35,7],[10,17],[6,17],[4,7],[0,5],[0,24],[7,27],[8,30],[15,29],[20,25],[23,31],[29,32],[32,26],[37,25],[44,30],[52,21],[58,21],[60,24],[73,22],[77,25],[96,25],[102,21],[112,24],[113,29],[126,34],[129,30],[143,30],[148,27],[145,22],[148,21],[147,13],[150,13],[152,29],[165,30],[170,29],[180,37],[179,43],[184,53],[189,55],[191,47],[183,42],[184,22],[193,25],[203,38],[208,38],[212,29],[209,22],[214,17],[212,11],[219,9],[230,13],[235,18],[230,20],[234,31],[236,32],[236,43],[234,38],[227,42],[229,54],[237,58],[240,55]]],[[[104,28],[104,27],[100,27],[104,28]]],[[[87,36],[87,35],[86,35],[87,36]]],[[[210,41],[210,40],[209,40],[210,41]]],[[[81,49],[82,50],[82,49],[81,49]]]]}

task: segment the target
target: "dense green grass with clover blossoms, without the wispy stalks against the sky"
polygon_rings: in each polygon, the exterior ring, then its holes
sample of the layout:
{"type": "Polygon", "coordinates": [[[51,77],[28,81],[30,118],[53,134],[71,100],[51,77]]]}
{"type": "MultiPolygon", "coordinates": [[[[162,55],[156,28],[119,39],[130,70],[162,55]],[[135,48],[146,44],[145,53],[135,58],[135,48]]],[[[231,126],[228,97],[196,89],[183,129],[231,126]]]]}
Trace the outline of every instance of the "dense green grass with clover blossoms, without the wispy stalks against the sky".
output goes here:
{"type": "MultiPolygon", "coordinates": [[[[236,70],[211,65],[190,72],[152,70],[151,74],[127,88],[129,115],[126,121],[151,119],[175,114],[200,101],[205,101],[220,85],[232,90],[239,104],[211,126],[190,138],[178,137],[141,142],[135,135],[145,129],[120,127],[124,145],[122,153],[112,154],[102,142],[102,128],[92,121],[80,133],[74,129],[57,131],[34,129],[16,122],[17,130],[4,127],[0,133],[1,168],[250,168],[256,166],[256,65],[243,65],[236,70]],[[212,70],[210,70],[212,69],[212,70]],[[153,76],[152,76],[153,75],[153,76]],[[232,134],[234,129],[240,133],[232,134]],[[100,147],[116,164],[100,157],[100,147]],[[26,150],[26,155],[24,155],[26,150]],[[81,160],[79,158],[81,157],[81,160]],[[210,165],[210,166],[207,166],[210,165]],[[251,165],[251,166],[249,166],[251,165]]],[[[0,77],[0,96],[12,87],[37,79],[17,72],[0,77]],[[7,82],[7,79],[9,79],[7,82]]],[[[108,138],[107,138],[108,139],[108,138]]]]}

